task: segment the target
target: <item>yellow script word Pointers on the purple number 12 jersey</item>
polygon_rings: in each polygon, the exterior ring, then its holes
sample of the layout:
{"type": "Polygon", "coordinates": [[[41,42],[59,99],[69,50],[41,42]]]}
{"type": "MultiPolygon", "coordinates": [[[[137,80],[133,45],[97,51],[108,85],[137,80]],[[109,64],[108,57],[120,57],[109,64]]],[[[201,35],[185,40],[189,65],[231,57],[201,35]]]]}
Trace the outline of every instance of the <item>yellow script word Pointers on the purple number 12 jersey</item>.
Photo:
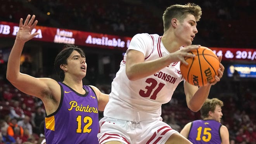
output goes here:
{"type": "Polygon", "coordinates": [[[90,107],[89,105],[87,106],[83,106],[83,104],[81,104],[80,106],[78,106],[76,101],[70,101],[69,102],[70,108],[68,109],[69,111],[74,110],[75,111],[83,111],[83,112],[88,112],[88,113],[98,113],[98,109],[97,107],[90,107]]]}

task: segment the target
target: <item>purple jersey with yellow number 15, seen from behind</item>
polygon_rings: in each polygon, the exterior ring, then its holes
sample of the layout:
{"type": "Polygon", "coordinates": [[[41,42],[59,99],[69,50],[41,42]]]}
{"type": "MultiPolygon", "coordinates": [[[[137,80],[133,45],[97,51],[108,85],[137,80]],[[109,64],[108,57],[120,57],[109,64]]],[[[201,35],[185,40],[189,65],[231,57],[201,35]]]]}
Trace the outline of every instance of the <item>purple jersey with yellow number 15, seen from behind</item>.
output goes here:
{"type": "Polygon", "coordinates": [[[221,144],[221,123],[215,120],[195,120],[189,130],[189,141],[193,144],[221,144]]]}

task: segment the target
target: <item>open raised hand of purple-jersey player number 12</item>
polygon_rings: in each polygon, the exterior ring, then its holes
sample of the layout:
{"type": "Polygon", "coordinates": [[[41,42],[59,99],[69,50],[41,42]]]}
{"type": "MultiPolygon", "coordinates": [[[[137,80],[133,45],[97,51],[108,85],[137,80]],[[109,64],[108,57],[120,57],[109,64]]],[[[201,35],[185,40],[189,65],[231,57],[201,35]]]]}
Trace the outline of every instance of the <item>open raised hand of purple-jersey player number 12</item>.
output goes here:
{"type": "Polygon", "coordinates": [[[39,34],[39,33],[31,34],[31,31],[35,28],[38,21],[35,20],[35,17],[36,17],[35,15],[32,15],[31,19],[30,19],[30,17],[31,17],[31,15],[27,16],[24,24],[22,23],[23,19],[22,18],[20,19],[19,31],[17,33],[16,40],[26,42],[26,41],[29,41],[30,39],[32,39],[34,36],[39,34]]]}

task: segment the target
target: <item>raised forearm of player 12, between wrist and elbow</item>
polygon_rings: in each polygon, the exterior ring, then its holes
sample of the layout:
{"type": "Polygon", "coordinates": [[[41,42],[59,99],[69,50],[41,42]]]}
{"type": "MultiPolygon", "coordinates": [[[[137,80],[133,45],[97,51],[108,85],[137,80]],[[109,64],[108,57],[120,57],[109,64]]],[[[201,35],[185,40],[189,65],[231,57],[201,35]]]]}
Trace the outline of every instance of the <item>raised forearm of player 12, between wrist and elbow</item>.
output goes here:
{"type": "Polygon", "coordinates": [[[15,40],[7,63],[6,77],[9,81],[17,79],[20,74],[21,53],[25,42],[15,40]]]}

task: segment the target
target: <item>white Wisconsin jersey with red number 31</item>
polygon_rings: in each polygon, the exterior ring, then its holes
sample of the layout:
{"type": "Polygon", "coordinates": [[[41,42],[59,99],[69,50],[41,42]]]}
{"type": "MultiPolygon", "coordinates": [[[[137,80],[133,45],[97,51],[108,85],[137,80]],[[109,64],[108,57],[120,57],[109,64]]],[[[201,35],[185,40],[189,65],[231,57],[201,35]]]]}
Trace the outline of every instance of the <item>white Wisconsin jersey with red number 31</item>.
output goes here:
{"type": "MultiPolygon", "coordinates": [[[[169,55],[161,37],[158,34],[136,34],[127,51],[142,52],[145,61],[169,55]]],[[[180,73],[180,62],[170,63],[154,75],[130,81],[125,72],[126,53],[112,82],[104,116],[132,122],[162,120],[161,105],[171,100],[176,87],[184,80],[180,73]]]]}

